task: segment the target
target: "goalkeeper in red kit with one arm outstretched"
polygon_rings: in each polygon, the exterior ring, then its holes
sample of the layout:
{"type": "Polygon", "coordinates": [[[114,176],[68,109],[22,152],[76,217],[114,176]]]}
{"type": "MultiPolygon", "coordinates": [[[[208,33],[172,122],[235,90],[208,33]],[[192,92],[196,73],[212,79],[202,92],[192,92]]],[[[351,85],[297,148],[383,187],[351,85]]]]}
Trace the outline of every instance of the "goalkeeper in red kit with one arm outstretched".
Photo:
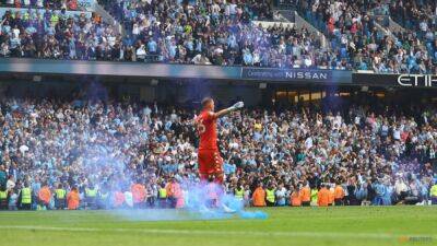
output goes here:
{"type": "Polygon", "coordinates": [[[217,147],[217,118],[244,107],[243,102],[234,106],[214,112],[214,101],[206,97],[202,101],[202,112],[196,118],[196,126],[200,136],[199,143],[199,174],[202,181],[214,180],[223,183],[223,159],[217,147]]]}

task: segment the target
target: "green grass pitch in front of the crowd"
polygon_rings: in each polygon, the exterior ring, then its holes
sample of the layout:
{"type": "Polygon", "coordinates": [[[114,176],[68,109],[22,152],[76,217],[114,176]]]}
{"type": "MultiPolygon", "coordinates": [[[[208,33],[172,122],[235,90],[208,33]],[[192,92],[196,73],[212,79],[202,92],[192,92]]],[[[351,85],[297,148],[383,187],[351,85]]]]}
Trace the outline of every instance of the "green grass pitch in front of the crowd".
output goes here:
{"type": "Polygon", "coordinates": [[[142,221],[149,215],[140,211],[130,219],[109,211],[0,212],[0,245],[437,245],[437,207],[264,211],[267,220],[194,220],[184,211],[147,211],[177,221],[142,221]]]}

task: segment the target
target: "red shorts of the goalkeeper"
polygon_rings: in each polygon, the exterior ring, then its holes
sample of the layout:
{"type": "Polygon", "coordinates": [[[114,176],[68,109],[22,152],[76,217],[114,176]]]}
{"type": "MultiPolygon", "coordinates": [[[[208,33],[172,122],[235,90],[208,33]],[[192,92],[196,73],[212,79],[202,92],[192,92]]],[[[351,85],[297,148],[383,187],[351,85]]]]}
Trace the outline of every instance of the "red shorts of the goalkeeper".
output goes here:
{"type": "Polygon", "coordinates": [[[211,175],[223,176],[223,159],[218,150],[199,150],[199,173],[201,178],[208,178],[211,175]]]}

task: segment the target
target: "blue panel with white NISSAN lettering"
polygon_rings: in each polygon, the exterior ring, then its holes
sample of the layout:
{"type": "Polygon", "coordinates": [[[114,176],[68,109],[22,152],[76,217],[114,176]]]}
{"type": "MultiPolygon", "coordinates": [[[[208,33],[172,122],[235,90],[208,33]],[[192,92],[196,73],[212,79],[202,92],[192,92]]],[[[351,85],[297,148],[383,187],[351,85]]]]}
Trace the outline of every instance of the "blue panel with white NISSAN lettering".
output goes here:
{"type": "Polygon", "coordinates": [[[329,82],[332,81],[332,71],[306,69],[243,68],[241,78],[253,80],[296,80],[329,82]]]}

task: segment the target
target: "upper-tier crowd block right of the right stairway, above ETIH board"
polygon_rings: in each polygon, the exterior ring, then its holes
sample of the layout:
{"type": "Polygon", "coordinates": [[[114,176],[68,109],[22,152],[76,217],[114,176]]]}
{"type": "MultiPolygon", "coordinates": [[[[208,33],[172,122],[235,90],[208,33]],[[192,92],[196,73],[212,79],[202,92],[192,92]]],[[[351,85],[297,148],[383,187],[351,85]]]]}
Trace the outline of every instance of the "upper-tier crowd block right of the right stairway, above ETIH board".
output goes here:
{"type": "MultiPolygon", "coordinates": [[[[414,32],[387,34],[375,14],[385,13],[379,1],[295,1],[307,21],[323,31],[339,59],[357,70],[378,73],[435,73],[435,50],[422,45],[414,32]]],[[[435,46],[435,45],[434,45],[435,46]]]]}

